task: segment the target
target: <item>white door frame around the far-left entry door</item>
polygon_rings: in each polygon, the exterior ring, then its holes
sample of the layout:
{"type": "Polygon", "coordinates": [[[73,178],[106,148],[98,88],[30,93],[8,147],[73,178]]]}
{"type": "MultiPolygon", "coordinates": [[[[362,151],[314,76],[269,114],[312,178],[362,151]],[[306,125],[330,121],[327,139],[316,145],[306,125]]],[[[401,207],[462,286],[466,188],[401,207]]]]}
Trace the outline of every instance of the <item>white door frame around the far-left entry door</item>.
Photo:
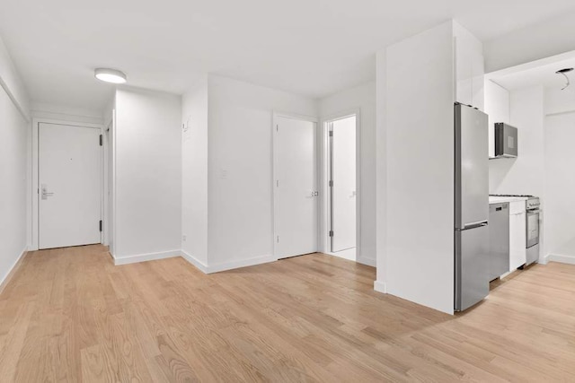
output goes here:
{"type": "MultiPolygon", "coordinates": [[[[32,219],[31,219],[31,250],[38,250],[39,249],[39,236],[40,236],[40,228],[39,228],[39,213],[40,213],[40,186],[39,186],[39,146],[38,146],[38,138],[39,138],[39,131],[40,131],[40,124],[55,124],[55,125],[65,125],[65,126],[79,126],[79,127],[89,127],[89,128],[97,128],[100,129],[100,134],[103,135],[104,126],[102,124],[92,124],[86,122],[75,122],[75,121],[66,121],[66,120],[59,120],[59,119],[52,119],[52,118],[32,118],[32,179],[31,179],[31,205],[32,205],[32,219]]],[[[103,220],[103,206],[104,206],[104,191],[103,191],[103,155],[102,150],[100,151],[100,214],[103,220]]],[[[103,237],[103,233],[101,239],[103,237]]]]}

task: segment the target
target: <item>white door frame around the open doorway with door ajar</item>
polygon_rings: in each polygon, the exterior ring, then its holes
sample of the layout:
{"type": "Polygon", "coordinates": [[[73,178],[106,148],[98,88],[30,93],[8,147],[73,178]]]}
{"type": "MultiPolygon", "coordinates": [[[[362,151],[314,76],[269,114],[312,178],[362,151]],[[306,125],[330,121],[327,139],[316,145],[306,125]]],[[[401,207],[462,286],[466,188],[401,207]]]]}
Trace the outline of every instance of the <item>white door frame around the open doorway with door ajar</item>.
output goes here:
{"type": "Polygon", "coordinates": [[[362,263],[361,258],[361,108],[345,109],[338,113],[322,118],[321,129],[321,187],[323,192],[320,194],[322,197],[322,214],[320,217],[320,235],[322,252],[334,257],[342,257],[345,259],[353,260],[362,263]],[[329,124],[335,120],[348,118],[351,116],[356,117],[356,255],[351,257],[342,257],[342,254],[332,253],[330,228],[331,228],[331,200],[330,200],[330,135],[329,124]]]}

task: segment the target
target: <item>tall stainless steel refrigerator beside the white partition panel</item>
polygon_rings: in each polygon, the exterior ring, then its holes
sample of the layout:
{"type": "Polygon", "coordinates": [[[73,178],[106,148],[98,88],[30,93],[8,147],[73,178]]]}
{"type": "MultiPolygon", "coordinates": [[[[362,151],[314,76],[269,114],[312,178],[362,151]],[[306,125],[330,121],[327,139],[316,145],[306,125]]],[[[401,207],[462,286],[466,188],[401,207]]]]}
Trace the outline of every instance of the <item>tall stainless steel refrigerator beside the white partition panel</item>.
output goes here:
{"type": "Polygon", "coordinates": [[[455,309],[489,293],[489,133],[487,115],[456,103],[455,309]]]}

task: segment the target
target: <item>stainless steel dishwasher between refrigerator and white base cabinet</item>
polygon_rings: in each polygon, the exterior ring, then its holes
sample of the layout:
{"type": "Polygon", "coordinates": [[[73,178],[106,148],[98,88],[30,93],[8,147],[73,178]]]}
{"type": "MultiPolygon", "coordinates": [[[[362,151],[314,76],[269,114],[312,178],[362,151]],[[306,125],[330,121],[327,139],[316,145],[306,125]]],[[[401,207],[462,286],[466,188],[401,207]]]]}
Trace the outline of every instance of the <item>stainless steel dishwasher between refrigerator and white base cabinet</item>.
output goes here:
{"type": "Polygon", "coordinates": [[[509,203],[489,205],[489,280],[509,273],[509,203]]]}

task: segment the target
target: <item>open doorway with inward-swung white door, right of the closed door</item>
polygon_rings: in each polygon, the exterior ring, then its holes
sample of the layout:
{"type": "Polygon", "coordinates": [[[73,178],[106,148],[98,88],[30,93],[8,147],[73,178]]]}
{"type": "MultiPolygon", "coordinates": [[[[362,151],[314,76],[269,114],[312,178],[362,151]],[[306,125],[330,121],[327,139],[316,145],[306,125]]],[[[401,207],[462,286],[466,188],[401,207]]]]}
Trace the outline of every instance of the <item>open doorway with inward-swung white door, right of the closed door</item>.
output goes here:
{"type": "Polygon", "coordinates": [[[356,260],[358,233],[357,113],[324,124],[327,136],[327,238],[329,254],[356,260]]]}

